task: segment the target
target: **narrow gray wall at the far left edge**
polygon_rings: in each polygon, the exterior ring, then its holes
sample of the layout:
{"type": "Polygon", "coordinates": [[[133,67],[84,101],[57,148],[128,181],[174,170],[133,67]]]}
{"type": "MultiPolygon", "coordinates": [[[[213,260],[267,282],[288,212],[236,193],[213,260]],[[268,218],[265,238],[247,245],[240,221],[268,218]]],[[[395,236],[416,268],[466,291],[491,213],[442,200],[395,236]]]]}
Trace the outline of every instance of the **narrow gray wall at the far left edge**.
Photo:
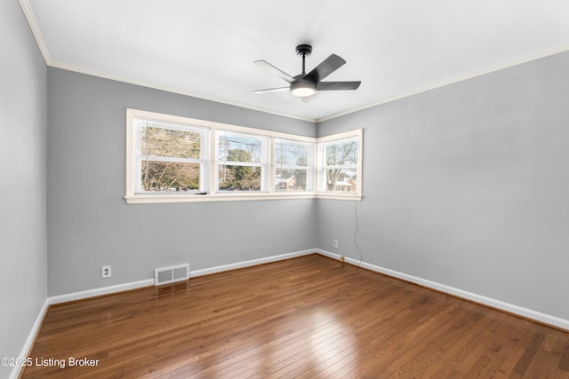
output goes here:
{"type": "Polygon", "coordinates": [[[0,15],[0,357],[18,357],[46,298],[46,69],[20,4],[0,15]]]}

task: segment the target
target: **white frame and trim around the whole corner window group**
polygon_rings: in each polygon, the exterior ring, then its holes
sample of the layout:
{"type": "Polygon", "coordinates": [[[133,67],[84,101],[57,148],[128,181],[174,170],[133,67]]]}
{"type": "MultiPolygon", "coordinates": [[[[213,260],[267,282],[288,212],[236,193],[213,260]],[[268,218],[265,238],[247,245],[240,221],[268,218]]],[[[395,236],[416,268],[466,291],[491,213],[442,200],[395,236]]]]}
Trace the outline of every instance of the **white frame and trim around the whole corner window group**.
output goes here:
{"type": "MultiPolygon", "coordinates": [[[[235,163],[235,162],[232,162],[235,163]]],[[[238,163],[246,165],[257,165],[257,163],[238,163]]],[[[271,200],[271,199],[341,199],[360,201],[362,198],[362,130],[354,130],[325,138],[311,138],[297,136],[293,134],[281,133],[271,130],[260,130],[242,126],[230,125],[221,122],[210,122],[197,120],[188,117],[174,116],[170,114],[158,114],[154,112],[142,111],[138,109],[126,109],[126,193],[124,199],[128,204],[139,203],[170,203],[170,202],[194,202],[194,201],[250,201],[250,200],[271,200]],[[182,125],[188,128],[204,128],[204,155],[200,159],[203,172],[200,172],[200,191],[196,192],[156,192],[156,193],[137,193],[136,188],[140,188],[140,159],[136,152],[136,130],[135,120],[144,119],[153,122],[164,122],[166,124],[182,125]],[[254,138],[264,138],[262,150],[266,159],[260,162],[261,181],[260,191],[218,191],[219,186],[219,156],[218,156],[218,134],[219,131],[234,133],[239,135],[250,135],[254,138]],[[321,175],[321,158],[317,152],[323,143],[342,138],[358,136],[358,158],[357,158],[357,192],[334,193],[318,191],[318,177],[321,175]],[[310,148],[310,158],[307,167],[307,181],[309,181],[308,191],[276,191],[276,167],[275,167],[275,140],[285,139],[292,142],[307,143],[310,148]],[[138,168],[138,169],[137,169],[138,168]],[[203,175],[201,175],[203,174],[203,175]],[[137,182],[138,180],[138,182],[137,182]],[[203,183],[202,183],[203,182],[203,183]]]]}

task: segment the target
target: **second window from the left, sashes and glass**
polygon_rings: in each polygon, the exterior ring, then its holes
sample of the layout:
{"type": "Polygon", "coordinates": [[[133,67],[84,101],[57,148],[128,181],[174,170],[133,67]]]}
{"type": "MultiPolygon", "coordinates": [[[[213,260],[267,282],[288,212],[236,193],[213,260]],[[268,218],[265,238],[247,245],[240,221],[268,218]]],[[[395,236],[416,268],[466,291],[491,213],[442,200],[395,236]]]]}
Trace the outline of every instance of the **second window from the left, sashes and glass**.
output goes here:
{"type": "Polygon", "coordinates": [[[268,138],[216,132],[216,191],[266,192],[268,190],[268,138]]]}

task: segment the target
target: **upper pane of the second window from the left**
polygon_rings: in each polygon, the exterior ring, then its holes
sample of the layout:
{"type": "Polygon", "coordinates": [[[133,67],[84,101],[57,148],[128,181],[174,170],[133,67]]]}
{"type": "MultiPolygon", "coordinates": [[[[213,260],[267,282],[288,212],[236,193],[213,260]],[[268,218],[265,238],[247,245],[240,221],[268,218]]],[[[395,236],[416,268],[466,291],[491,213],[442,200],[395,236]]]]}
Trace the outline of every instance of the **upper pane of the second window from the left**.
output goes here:
{"type": "Polygon", "coordinates": [[[260,163],[262,139],[223,133],[218,142],[218,156],[220,161],[260,163]]]}

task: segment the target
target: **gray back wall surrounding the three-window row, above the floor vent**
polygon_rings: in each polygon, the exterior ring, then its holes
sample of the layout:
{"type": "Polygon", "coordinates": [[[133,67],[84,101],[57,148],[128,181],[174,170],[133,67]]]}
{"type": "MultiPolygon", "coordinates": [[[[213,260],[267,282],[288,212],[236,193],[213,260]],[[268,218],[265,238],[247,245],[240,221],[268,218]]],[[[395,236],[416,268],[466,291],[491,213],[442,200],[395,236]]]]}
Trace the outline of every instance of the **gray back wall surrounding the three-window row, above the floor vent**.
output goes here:
{"type": "Polygon", "coordinates": [[[48,295],[316,247],[316,201],[124,202],[125,109],[316,137],[316,125],[48,68],[48,295]],[[101,265],[112,278],[101,279],[101,265]]]}

